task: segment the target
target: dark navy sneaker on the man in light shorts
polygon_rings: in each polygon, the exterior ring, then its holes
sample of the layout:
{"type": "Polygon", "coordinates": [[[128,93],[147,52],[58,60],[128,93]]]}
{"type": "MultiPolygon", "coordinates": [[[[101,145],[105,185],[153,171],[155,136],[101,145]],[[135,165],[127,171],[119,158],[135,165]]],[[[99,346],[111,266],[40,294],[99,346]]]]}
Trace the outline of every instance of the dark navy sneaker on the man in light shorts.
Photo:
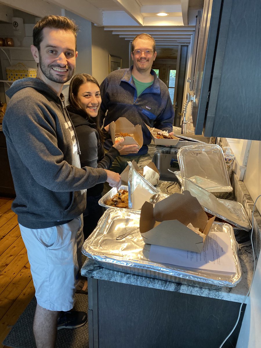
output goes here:
{"type": "Polygon", "coordinates": [[[57,320],[57,330],[77,329],[87,322],[87,313],[79,311],[62,312],[57,320]]]}

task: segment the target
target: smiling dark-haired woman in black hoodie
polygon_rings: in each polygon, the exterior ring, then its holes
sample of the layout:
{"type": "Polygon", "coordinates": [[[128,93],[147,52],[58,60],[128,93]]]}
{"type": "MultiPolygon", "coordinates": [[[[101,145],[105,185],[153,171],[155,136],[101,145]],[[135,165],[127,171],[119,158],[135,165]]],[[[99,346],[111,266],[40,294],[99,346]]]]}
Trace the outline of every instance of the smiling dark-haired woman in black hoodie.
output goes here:
{"type": "MultiPolygon", "coordinates": [[[[123,139],[114,144],[104,153],[103,140],[108,136],[103,132],[98,119],[101,105],[100,86],[97,80],[89,74],[75,75],[69,87],[69,112],[80,145],[81,167],[109,169],[113,160],[119,155],[137,153],[137,145],[121,145],[123,139]]],[[[97,226],[104,212],[98,205],[102,197],[103,183],[87,189],[87,206],[84,212],[84,238],[86,239],[97,226]]]]}

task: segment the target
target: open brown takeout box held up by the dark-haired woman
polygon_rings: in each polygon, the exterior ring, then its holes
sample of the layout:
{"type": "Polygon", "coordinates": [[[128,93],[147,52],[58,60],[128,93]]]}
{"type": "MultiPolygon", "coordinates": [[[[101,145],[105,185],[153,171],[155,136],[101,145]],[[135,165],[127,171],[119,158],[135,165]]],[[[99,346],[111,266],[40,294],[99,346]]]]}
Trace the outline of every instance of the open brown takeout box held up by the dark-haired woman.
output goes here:
{"type": "Polygon", "coordinates": [[[126,117],[119,117],[115,122],[112,121],[109,125],[109,133],[113,144],[115,144],[115,133],[128,133],[132,136],[126,136],[122,145],[138,145],[138,149],[143,145],[143,135],[141,125],[134,126],[126,117]]]}

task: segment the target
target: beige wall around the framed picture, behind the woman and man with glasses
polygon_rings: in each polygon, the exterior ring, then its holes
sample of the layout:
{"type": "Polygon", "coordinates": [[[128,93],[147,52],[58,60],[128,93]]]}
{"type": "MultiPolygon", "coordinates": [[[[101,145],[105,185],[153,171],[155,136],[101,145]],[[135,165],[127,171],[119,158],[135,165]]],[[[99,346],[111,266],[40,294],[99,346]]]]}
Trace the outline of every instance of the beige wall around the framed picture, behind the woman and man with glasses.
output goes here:
{"type": "Polygon", "coordinates": [[[108,75],[109,54],[122,58],[122,69],[129,68],[129,41],[92,24],[92,72],[99,84],[108,75]]]}

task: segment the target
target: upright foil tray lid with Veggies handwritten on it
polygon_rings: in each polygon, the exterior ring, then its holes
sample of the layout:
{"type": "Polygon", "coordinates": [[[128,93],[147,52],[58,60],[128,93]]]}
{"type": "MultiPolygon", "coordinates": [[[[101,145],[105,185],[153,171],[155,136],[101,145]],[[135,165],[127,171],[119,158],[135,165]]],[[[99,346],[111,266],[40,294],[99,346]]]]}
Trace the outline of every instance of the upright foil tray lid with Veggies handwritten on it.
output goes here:
{"type": "Polygon", "coordinates": [[[219,145],[184,146],[177,152],[181,177],[211,193],[231,192],[224,154],[219,145]]]}

